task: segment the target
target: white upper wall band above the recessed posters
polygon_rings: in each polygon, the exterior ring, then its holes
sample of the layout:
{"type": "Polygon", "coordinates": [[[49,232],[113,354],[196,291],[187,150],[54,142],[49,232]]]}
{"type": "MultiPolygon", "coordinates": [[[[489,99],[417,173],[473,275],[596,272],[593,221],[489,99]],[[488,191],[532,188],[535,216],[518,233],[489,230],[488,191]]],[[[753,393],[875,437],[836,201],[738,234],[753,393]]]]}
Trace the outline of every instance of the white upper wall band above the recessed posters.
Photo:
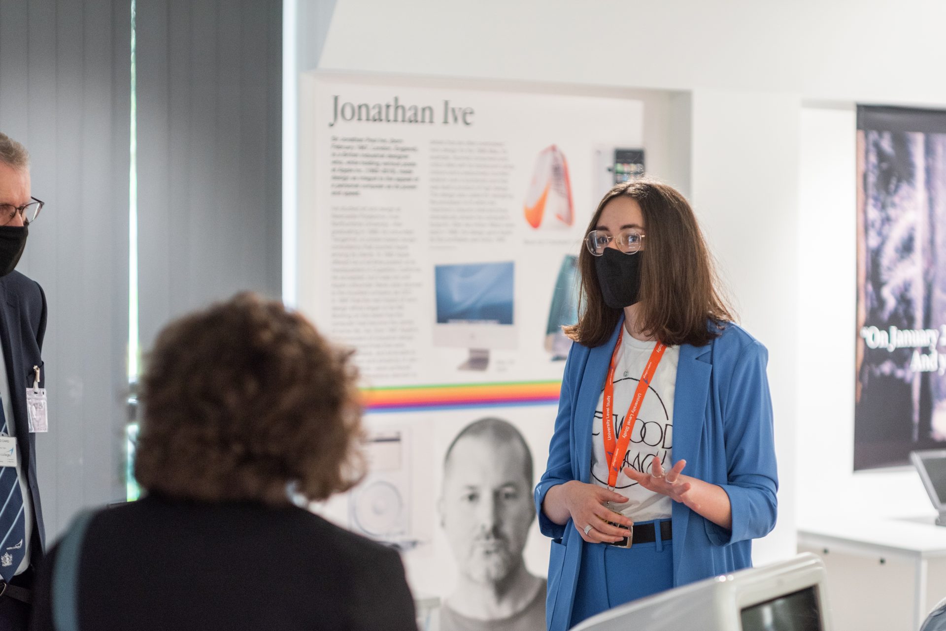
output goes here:
{"type": "Polygon", "coordinates": [[[324,68],[946,103],[937,0],[329,4],[324,68]]]}

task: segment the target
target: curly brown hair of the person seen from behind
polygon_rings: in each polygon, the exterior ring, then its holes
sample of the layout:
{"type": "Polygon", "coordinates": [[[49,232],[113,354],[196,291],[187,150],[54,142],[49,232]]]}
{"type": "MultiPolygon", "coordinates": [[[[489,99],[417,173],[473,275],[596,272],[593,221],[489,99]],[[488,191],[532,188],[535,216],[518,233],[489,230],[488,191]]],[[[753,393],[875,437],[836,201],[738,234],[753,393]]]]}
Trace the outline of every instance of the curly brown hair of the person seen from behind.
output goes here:
{"type": "Polygon", "coordinates": [[[204,502],[288,504],[364,472],[357,371],[282,303],[238,294],[162,331],[142,378],[134,474],[204,502]]]}

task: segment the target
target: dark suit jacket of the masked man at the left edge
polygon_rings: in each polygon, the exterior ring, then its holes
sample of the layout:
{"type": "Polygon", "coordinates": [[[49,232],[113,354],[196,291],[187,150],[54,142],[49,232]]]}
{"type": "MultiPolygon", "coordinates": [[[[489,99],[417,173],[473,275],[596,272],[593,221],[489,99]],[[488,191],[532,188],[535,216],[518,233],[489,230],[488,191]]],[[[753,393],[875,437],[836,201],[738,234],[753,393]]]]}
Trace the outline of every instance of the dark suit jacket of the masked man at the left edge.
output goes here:
{"type": "Polygon", "coordinates": [[[33,503],[30,556],[34,564],[43,556],[46,537],[36,481],[36,435],[30,433],[26,418],[26,387],[33,385],[34,366],[40,367],[40,387],[45,387],[46,371],[40,353],[45,332],[46,297],[40,284],[16,271],[0,277],[0,344],[7,365],[16,447],[33,503]]]}

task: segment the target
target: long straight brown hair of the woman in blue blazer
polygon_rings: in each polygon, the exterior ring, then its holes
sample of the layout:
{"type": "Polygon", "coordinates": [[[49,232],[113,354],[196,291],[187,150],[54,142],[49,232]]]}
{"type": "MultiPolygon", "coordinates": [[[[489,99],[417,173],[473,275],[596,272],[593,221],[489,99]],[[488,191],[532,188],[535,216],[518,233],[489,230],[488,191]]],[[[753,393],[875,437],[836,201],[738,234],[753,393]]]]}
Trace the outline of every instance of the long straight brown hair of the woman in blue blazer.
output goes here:
{"type": "MultiPolygon", "coordinates": [[[[588,223],[594,230],[612,199],[635,199],[644,218],[645,249],[640,262],[639,326],[664,344],[704,346],[735,319],[717,285],[710,249],[687,199],[673,187],[652,179],[618,184],[602,198],[588,223]],[[710,328],[710,322],[715,326],[710,328]]],[[[583,242],[578,255],[581,274],[578,324],[565,333],[587,347],[610,339],[622,310],[604,304],[595,257],[583,242]]]]}

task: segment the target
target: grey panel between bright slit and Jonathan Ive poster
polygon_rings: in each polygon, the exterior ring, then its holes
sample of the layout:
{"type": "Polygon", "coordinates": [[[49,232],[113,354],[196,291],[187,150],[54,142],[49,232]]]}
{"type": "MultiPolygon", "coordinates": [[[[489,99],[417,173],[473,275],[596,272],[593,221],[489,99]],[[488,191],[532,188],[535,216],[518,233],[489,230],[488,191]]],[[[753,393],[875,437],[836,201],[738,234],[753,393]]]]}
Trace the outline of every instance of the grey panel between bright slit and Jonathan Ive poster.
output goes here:
{"type": "Polygon", "coordinates": [[[138,0],[141,342],[281,292],[282,3],[138,0]]]}

